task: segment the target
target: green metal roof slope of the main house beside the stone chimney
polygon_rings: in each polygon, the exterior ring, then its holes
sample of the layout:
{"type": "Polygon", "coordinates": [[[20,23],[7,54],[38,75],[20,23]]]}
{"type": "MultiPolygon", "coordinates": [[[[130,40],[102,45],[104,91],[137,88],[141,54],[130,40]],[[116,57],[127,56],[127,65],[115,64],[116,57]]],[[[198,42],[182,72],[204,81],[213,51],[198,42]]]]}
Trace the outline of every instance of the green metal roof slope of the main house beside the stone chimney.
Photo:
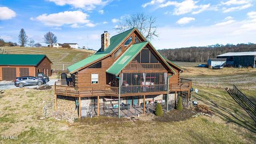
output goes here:
{"type": "Polygon", "coordinates": [[[70,73],[74,73],[76,70],[90,64],[91,62],[94,62],[95,60],[98,60],[108,54],[111,54],[111,52],[134,30],[135,28],[132,28],[130,30],[127,30],[125,32],[122,32],[116,36],[112,36],[110,38],[110,45],[105,49],[105,51],[101,52],[101,49],[98,50],[94,55],[85,58],[84,60],[81,60],[80,62],[77,62],[71,66],[68,66],[68,71],[70,73]]]}

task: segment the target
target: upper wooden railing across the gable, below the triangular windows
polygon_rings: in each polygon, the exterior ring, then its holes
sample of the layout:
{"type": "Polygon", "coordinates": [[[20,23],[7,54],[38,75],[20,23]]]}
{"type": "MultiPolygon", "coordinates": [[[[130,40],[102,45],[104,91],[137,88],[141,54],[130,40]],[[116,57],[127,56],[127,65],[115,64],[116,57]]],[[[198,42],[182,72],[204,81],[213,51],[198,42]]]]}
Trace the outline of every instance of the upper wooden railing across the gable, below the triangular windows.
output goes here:
{"type": "Polygon", "coordinates": [[[144,69],[164,69],[161,63],[130,63],[125,68],[125,70],[144,70],[144,69]]]}

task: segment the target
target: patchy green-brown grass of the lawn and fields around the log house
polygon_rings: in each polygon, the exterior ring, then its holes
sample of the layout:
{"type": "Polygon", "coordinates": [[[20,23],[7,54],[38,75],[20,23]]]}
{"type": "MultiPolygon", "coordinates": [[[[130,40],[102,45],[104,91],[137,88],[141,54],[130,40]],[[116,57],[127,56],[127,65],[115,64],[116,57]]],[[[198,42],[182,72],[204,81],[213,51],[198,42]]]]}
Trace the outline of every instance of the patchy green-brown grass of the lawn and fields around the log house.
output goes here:
{"type": "MultiPolygon", "coordinates": [[[[23,49],[23,48],[22,48],[23,49]]],[[[28,48],[37,51],[37,48],[28,48]]],[[[47,48],[42,48],[47,49],[47,48]]],[[[12,52],[12,50],[10,50],[12,52]]],[[[15,50],[13,49],[13,52],[15,50]]],[[[50,50],[49,56],[54,64],[71,64],[76,62],[72,56],[79,53],[86,57],[87,52],[66,49],[50,50]],[[51,51],[51,52],[50,52],[51,51]],[[58,52],[57,52],[58,51],[58,52]],[[55,53],[56,52],[56,53],[55,53]],[[66,58],[54,58],[59,53],[66,53],[66,58]],[[68,60],[68,57],[70,60],[68,60]],[[68,62],[62,62],[61,60],[68,62]]],[[[89,54],[89,53],[88,53],[89,54]]],[[[177,62],[178,63],[178,62],[177,62]]],[[[54,101],[54,90],[35,90],[28,88],[4,90],[0,94],[0,143],[52,143],[52,144],[255,144],[256,123],[239,104],[224,90],[225,86],[232,88],[234,82],[244,82],[242,92],[256,103],[256,91],[246,88],[252,80],[255,85],[256,71],[254,69],[211,70],[198,68],[195,63],[179,63],[187,72],[181,74],[182,78],[193,79],[193,88],[201,90],[196,96],[199,104],[208,106],[214,113],[212,116],[190,117],[179,122],[172,118],[161,121],[154,115],[141,115],[137,121],[127,118],[93,117],[75,120],[74,123],[54,118],[44,118],[46,102],[54,101]],[[249,76],[248,79],[236,77],[249,76]],[[225,77],[226,76],[226,77],[225,77]],[[228,77],[230,76],[230,77],[228,77]],[[217,87],[212,84],[216,79],[217,87]],[[236,80],[236,81],[235,81],[236,80]],[[196,81],[196,82],[195,82],[196,81]],[[224,81],[224,83],[220,83],[224,81]],[[218,86],[218,83],[219,86],[218,86]],[[202,85],[200,85],[202,84],[202,85]],[[221,85],[221,86],[220,86],[221,85]],[[8,136],[8,138],[7,138],[8,136]],[[11,139],[12,138],[12,139],[11,139]]],[[[71,102],[72,103],[72,102],[71,102]]],[[[54,108],[54,106],[52,106],[54,108]]],[[[74,109],[67,107],[66,111],[74,109]]],[[[186,109],[186,108],[184,108],[186,109]]],[[[65,112],[65,111],[64,111],[65,112]]],[[[174,113],[171,110],[168,113],[174,113]]],[[[178,113],[176,113],[179,115],[178,113]]],[[[180,113],[182,114],[182,113],[180,113]]],[[[165,114],[170,115],[170,114],[165,114]]],[[[188,114],[187,114],[188,115],[188,114]]],[[[193,115],[193,114],[192,114],[193,115]]],[[[186,117],[186,116],[184,116],[186,117]]]]}

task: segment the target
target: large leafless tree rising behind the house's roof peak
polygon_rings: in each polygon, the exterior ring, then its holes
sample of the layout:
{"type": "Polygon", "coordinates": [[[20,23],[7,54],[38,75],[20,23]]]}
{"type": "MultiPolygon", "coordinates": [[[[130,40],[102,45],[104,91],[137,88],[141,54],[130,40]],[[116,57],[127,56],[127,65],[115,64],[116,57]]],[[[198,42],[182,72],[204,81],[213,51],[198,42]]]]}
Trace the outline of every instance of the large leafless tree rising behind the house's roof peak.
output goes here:
{"type": "Polygon", "coordinates": [[[158,38],[157,26],[154,25],[155,22],[155,17],[148,16],[144,12],[138,12],[132,14],[130,18],[126,18],[124,23],[119,22],[119,25],[114,29],[121,33],[126,29],[136,27],[147,40],[152,40],[155,37],[158,38]]]}

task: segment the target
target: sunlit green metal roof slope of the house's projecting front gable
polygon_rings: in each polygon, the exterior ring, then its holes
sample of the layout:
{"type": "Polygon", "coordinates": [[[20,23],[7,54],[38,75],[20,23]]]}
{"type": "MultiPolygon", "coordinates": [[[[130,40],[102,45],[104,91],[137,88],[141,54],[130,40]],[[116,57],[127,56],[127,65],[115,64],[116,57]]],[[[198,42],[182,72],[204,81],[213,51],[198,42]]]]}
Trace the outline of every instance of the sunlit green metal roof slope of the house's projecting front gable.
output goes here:
{"type": "Polygon", "coordinates": [[[107,70],[107,73],[113,74],[117,76],[122,69],[131,61],[134,59],[135,56],[142,50],[148,44],[148,41],[132,44],[128,50],[116,60],[116,62],[107,70]]]}

